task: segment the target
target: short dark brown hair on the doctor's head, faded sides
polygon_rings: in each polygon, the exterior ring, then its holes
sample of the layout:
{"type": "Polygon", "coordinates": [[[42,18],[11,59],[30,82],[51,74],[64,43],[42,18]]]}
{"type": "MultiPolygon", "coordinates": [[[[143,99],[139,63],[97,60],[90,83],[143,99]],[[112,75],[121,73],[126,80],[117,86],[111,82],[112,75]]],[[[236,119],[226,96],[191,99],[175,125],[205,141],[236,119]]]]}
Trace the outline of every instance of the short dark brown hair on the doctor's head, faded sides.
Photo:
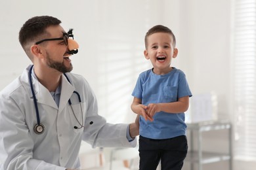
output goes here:
{"type": "Polygon", "coordinates": [[[47,27],[52,25],[59,25],[60,20],[54,18],[53,16],[35,16],[30,18],[25,24],[21,27],[18,39],[20,44],[28,57],[31,59],[30,47],[32,42],[39,41],[39,38],[46,35],[45,31],[47,27]]]}

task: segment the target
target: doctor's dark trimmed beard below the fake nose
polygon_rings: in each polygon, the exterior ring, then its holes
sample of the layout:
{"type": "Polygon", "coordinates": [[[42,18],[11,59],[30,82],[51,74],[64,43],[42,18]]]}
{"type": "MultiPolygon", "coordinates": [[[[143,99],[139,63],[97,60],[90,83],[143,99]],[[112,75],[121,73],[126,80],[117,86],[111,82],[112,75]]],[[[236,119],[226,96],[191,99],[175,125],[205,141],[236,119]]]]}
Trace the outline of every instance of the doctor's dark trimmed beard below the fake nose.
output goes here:
{"type": "Polygon", "coordinates": [[[53,61],[53,59],[50,58],[50,55],[48,54],[48,52],[47,52],[47,65],[52,69],[56,69],[57,71],[60,71],[61,73],[68,73],[73,69],[72,63],[70,63],[70,67],[66,67],[64,65],[64,61],[63,62],[53,61]]]}

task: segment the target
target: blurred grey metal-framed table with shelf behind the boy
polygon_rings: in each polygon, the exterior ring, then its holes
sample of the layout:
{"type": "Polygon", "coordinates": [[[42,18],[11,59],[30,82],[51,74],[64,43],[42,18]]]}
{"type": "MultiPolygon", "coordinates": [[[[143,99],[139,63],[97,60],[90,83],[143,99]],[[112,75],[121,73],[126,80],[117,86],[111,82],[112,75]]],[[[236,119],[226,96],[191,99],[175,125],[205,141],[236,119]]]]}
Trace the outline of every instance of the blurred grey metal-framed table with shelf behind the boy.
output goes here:
{"type": "MultiPolygon", "coordinates": [[[[187,124],[188,132],[190,132],[190,151],[186,156],[185,162],[190,163],[190,169],[194,170],[194,163],[198,163],[198,170],[203,169],[203,164],[214,163],[218,161],[228,161],[229,170],[232,170],[232,126],[227,121],[214,121],[214,122],[199,122],[193,124],[187,124]],[[216,153],[216,152],[203,152],[202,149],[202,132],[203,131],[216,131],[216,130],[228,130],[228,153],[216,153]],[[194,132],[197,132],[198,150],[194,150],[194,132]]],[[[216,146],[218,147],[218,146],[216,146]]]]}

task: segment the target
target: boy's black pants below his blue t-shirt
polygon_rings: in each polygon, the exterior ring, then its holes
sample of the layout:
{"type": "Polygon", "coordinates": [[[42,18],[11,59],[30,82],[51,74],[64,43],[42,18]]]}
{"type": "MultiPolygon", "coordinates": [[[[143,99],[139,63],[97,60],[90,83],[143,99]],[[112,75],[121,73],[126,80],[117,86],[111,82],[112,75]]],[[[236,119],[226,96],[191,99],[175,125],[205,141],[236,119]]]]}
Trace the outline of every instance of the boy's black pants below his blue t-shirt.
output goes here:
{"type": "Polygon", "coordinates": [[[156,170],[161,160],[161,170],[181,170],[188,152],[186,136],[170,139],[139,138],[140,170],[156,170]]]}

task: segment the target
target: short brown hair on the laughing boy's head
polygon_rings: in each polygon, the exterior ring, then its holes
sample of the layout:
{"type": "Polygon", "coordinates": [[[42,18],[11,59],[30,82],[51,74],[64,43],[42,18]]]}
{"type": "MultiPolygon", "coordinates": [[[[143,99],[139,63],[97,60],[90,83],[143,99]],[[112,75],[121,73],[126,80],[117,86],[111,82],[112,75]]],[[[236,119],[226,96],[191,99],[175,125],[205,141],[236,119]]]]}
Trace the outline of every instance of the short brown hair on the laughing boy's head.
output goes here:
{"type": "Polygon", "coordinates": [[[169,33],[173,37],[173,47],[176,46],[176,39],[175,35],[173,34],[173,31],[169,29],[169,27],[165,27],[163,25],[155,25],[154,27],[150,28],[145,36],[145,47],[148,46],[148,36],[154,34],[154,33],[169,33]]]}

